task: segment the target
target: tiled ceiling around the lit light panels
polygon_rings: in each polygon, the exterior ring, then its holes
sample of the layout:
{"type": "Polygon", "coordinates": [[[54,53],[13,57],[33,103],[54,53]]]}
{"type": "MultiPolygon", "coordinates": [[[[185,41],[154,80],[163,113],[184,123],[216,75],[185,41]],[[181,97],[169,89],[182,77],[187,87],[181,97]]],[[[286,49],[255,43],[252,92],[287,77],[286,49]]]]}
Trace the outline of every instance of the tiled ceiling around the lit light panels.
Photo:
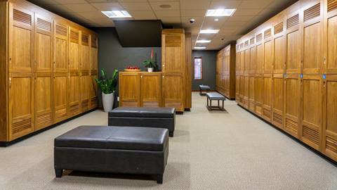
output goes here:
{"type": "Polygon", "coordinates": [[[54,13],[91,27],[113,27],[100,11],[126,10],[133,20],[159,19],[164,25],[183,27],[197,39],[211,39],[207,50],[218,50],[296,0],[29,0],[54,13]],[[161,8],[170,5],[171,8],[161,8]],[[210,8],[236,8],[232,17],[205,17],[210,8]],[[190,18],[195,23],[190,23],[190,18]],[[218,29],[218,34],[199,34],[200,29],[218,29]],[[223,38],[223,40],[221,40],[223,38]]]}

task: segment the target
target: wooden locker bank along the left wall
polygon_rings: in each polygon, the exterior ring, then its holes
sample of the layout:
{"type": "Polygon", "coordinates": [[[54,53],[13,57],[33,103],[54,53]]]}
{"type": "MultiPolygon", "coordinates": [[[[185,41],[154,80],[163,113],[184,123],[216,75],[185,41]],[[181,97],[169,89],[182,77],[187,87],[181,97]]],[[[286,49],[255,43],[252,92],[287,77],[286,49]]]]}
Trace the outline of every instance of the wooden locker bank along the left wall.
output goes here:
{"type": "Polygon", "coordinates": [[[97,107],[97,43],[28,1],[0,1],[0,142],[97,107]]]}

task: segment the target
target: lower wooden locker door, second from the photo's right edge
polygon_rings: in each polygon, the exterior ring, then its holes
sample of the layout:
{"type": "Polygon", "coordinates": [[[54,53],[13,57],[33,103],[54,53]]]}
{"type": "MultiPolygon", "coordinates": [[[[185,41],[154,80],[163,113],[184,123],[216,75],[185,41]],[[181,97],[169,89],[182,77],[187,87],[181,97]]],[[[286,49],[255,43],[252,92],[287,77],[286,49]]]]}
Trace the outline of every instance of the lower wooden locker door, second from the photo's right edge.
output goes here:
{"type": "Polygon", "coordinates": [[[301,80],[302,121],[300,138],[319,150],[322,141],[322,80],[321,75],[304,75],[301,80]]]}

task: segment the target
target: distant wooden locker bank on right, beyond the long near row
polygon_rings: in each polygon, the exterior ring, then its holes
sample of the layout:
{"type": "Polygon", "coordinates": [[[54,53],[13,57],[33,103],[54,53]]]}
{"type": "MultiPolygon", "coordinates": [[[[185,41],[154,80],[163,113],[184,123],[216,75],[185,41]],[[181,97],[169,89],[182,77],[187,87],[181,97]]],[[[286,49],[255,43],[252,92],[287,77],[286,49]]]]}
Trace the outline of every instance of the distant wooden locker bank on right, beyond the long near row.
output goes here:
{"type": "Polygon", "coordinates": [[[235,52],[235,44],[230,44],[217,54],[216,91],[227,99],[235,99],[235,52]]]}

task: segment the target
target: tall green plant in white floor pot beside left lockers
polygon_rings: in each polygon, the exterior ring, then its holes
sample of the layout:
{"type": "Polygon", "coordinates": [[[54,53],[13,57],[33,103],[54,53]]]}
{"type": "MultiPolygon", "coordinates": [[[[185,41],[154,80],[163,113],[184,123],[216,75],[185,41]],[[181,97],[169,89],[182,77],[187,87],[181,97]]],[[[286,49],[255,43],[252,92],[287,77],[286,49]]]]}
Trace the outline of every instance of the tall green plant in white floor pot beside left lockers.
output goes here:
{"type": "Polygon", "coordinates": [[[95,79],[95,82],[97,82],[102,91],[104,111],[109,112],[114,107],[114,91],[117,87],[118,70],[115,69],[112,77],[110,78],[107,78],[107,72],[105,72],[105,69],[102,69],[100,73],[100,79],[95,79]]]}

